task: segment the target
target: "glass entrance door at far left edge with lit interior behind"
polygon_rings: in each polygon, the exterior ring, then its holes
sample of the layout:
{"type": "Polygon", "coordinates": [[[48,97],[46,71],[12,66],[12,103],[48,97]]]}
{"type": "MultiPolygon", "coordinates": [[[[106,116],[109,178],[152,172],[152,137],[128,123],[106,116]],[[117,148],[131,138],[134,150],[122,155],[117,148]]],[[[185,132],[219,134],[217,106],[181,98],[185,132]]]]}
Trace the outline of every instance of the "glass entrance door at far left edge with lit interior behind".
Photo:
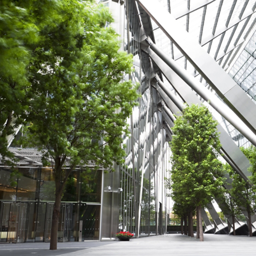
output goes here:
{"type": "Polygon", "coordinates": [[[28,208],[28,203],[2,203],[0,211],[0,242],[25,242],[28,208]]]}

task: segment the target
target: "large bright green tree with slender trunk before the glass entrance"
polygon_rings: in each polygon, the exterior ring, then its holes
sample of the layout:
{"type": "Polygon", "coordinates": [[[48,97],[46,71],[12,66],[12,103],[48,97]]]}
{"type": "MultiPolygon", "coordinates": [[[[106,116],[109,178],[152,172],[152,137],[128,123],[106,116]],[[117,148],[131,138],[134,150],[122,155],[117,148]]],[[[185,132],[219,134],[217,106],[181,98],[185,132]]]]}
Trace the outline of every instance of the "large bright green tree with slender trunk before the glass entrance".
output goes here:
{"type": "MultiPolygon", "coordinates": [[[[123,162],[121,135],[128,134],[126,120],[138,98],[137,85],[123,82],[124,73],[132,70],[132,56],[119,51],[117,34],[106,26],[113,22],[107,8],[94,0],[13,3],[24,9],[36,39],[22,43],[29,53],[24,64],[19,62],[24,65],[25,81],[19,82],[23,86],[20,101],[26,99],[22,111],[17,108],[16,112],[7,102],[6,113],[26,120],[29,136],[23,144],[38,147],[43,164],[53,166],[53,250],[61,197],[72,170],[90,165],[90,169],[102,166],[111,171],[113,161],[123,162]]],[[[20,33],[28,28],[21,27],[20,33]]],[[[7,84],[6,95],[8,89],[7,84]]]]}

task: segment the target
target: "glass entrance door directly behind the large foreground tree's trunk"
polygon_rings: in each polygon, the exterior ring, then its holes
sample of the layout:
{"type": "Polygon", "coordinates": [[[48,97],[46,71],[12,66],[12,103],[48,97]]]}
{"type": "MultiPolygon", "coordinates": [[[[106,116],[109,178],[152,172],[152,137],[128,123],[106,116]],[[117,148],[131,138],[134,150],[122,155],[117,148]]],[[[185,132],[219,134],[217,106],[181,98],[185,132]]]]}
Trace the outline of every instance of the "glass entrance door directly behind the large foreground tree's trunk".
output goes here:
{"type": "MultiPolygon", "coordinates": [[[[53,218],[53,203],[47,204],[45,242],[51,241],[51,226],[53,218]]],[[[58,227],[58,241],[67,242],[70,236],[70,226],[72,218],[72,203],[62,203],[60,205],[60,219],[58,227]]]]}

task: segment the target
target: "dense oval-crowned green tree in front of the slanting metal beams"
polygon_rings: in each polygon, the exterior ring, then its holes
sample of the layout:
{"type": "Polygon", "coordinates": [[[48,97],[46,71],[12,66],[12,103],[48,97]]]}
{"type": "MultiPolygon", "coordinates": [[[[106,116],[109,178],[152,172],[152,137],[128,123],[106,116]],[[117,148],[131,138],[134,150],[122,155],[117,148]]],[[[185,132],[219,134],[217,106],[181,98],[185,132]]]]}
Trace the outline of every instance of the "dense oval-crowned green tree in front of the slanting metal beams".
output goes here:
{"type": "Polygon", "coordinates": [[[170,187],[175,202],[192,212],[198,209],[200,241],[203,241],[201,208],[211,202],[223,184],[217,122],[205,106],[191,105],[177,117],[173,128],[170,187]]]}

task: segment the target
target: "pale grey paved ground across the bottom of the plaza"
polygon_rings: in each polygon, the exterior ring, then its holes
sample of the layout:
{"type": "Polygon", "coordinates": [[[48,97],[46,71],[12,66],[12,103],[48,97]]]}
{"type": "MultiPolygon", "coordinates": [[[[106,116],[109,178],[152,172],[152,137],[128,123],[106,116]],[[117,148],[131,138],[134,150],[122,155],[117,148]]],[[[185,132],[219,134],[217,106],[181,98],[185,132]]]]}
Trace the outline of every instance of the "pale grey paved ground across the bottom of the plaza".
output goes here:
{"type": "Polygon", "coordinates": [[[181,234],[143,237],[129,242],[0,245],[2,256],[244,256],[256,255],[256,237],[204,235],[204,242],[181,234]],[[30,245],[30,246],[29,246],[30,245]]]}

